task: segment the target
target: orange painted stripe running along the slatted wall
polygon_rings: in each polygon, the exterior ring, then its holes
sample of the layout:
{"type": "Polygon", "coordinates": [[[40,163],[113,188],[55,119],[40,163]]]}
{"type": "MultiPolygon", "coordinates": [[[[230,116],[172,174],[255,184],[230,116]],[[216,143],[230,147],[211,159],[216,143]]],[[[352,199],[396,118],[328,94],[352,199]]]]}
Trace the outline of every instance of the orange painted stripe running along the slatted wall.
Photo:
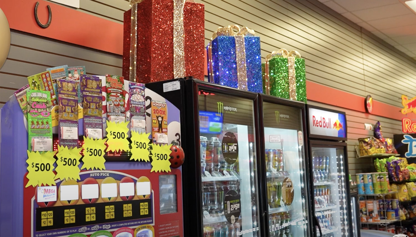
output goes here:
{"type": "MultiPolygon", "coordinates": [[[[33,10],[38,0],[2,0],[0,7],[9,21],[10,28],[36,34],[51,39],[86,46],[114,54],[123,54],[123,25],[109,20],[79,12],[70,7],[64,7],[52,2],[39,0],[39,20],[47,22],[47,5],[52,10],[50,27],[42,29],[36,24],[33,10]]],[[[58,65],[56,65],[58,66],[58,65]]],[[[205,75],[207,61],[205,54],[205,75]]],[[[340,108],[365,112],[365,98],[336,88],[324,86],[312,81],[306,82],[307,99],[334,105],[340,108]]],[[[373,100],[374,101],[374,100],[373,100]]],[[[403,117],[416,119],[416,114],[403,115],[399,107],[374,101],[371,114],[401,120],[403,117]]]]}

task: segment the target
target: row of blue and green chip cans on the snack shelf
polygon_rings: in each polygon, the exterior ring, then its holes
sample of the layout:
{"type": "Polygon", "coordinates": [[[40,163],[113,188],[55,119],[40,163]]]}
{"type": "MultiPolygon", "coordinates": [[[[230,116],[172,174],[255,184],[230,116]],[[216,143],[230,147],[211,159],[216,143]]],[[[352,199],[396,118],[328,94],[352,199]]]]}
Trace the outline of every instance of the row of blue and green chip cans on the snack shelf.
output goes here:
{"type": "Polygon", "coordinates": [[[357,173],[358,194],[385,194],[391,192],[387,172],[357,173]]]}

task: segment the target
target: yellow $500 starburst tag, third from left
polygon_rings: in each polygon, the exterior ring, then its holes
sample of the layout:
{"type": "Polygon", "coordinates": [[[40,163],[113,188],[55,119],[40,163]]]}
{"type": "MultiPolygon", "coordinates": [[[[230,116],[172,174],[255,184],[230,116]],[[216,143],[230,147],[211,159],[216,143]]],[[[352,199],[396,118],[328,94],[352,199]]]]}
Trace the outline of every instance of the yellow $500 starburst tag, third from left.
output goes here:
{"type": "Polygon", "coordinates": [[[104,150],[107,148],[105,145],[107,139],[92,139],[89,137],[84,137],[84,148],[82,158],[81,169],[105,169],[105,159],[104,159],[104,150]]]}

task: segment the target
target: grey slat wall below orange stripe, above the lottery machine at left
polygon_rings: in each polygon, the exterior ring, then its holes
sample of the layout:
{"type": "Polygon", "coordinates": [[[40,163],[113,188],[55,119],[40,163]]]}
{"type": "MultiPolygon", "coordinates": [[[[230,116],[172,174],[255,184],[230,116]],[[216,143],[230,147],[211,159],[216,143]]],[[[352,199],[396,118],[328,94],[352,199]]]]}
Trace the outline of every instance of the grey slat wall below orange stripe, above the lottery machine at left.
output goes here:
{"type": "Polygon", "coordinates": [[[17,31],[11,32],[11,42],[9,55],[0,70],[0,104],[7,102],[15,90],[27,84],[27,76],[49,67],[86,66],[88,74],[121,75],[120,55],[17,31]]]}

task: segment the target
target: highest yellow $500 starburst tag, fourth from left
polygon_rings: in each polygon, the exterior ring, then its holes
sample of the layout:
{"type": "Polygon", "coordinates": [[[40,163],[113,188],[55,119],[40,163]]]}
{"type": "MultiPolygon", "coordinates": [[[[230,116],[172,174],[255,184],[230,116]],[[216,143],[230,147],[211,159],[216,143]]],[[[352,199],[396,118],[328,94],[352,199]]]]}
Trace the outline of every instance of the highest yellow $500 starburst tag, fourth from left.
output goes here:
{"type": "Polygon", "coordinates": [[[129,140],[127,140],[127,125],[129,122],[110,122],[107,121],[107,151],[128,151],[129,140]]]}

